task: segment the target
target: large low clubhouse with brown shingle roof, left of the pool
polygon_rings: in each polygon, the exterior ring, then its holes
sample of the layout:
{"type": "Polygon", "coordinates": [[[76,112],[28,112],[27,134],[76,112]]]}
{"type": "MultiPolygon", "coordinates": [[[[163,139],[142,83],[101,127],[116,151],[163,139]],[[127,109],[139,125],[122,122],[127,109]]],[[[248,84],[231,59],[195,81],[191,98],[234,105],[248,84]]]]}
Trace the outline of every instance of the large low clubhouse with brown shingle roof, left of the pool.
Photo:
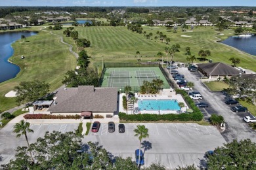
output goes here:
{"type": "Polygon", "coordinates": [[[117,88],[61,88],[48,109],[51,114],[112,117],[117,114],[117,88]]]}

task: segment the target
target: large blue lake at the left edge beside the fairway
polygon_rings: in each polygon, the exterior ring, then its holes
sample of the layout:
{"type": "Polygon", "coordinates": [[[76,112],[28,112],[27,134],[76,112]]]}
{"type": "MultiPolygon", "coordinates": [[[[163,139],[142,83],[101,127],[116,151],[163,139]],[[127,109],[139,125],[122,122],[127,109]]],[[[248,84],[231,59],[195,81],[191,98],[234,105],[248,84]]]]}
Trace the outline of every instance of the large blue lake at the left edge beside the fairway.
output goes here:
{"type": "MultiPolygon", "coordinates": [[[[0,33],[0,82],[14,78],[20,72],[18,65],[8,62],[8,59],[14,53],[11,44],[20,39],[22,35],[30,37],[36,34],[37,33],[30,31],[0,33]]],[[[24,56],[26,57],[26,54],[24,54],[24,56]]]]}

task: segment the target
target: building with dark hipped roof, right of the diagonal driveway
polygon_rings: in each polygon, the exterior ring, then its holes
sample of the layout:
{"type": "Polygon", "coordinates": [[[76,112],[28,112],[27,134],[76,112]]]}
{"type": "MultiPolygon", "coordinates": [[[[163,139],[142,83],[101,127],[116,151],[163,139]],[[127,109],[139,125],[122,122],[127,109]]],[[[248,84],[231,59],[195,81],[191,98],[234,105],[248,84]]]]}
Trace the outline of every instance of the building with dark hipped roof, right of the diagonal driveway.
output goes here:
{"type": "Polygon", "coordinates": [[[217,62],[217,63],[199,63],[198,71],[200,71],[203,75],[208,78],[224,78],[231,77],[234,75],[240,75],[241,73],[238,69],[230,65],[226,65],[225,63],[217,62]]]}

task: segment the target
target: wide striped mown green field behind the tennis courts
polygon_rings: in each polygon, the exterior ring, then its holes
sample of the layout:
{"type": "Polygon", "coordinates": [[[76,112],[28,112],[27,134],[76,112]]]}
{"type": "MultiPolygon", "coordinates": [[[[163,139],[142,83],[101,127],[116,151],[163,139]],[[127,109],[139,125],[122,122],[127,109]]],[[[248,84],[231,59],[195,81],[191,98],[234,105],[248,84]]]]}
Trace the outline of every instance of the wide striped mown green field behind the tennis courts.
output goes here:
{"type": "MultiPolygon", "coordinates": [[[[215,31],[215,27],[195,27],[193,32],[186,31],[182,32],[181,28],[178,29],[177,33],[172,31],[167,32],[165,27],[148,27],[143,26],[144,31],[147,33],[152,32],[153,37],[157,34],[157,31],[162,31],[163,34],[167,35],[171,39],[169,44],[161,42],[160,39],[157,41],[146,39],[143,34],[129,31],[127,27],[75,27],[75,30],[79,32],[79,38],[86,38],[91,41],[91,47],[86,48],[89,56],[92,56],[92,63],[99,65],[104,56],[104,61],[120,62],[125,59],[126,62],[137,61],[136,52],[139,50],[139,58],[142,61],[155,61],[158,59],[156,54],[161,51],[164,52],[165,46],[171,46],[172,44],[179,43],[181,45],[181,52],[176,52],[175,61],[186,62],[186,46],[190,46],[190,52],[192,55],[198,57],[200,50],[210,50],[211,56],[208,59],[213,61],[222,61],[230,64],[229,58],[240,58],[241,63],[239,67],[252,69],[256,71],[254,65],[256,64],[256,56],[246,54],[240,50],[236,50],[225,44],[221,44],[219,41],[222,37],[226,38],[233,35],[234,31],[228,29],[223,31],[224,35],[218,35],[218,31],[215,31]],[[231,34],[230,34],[231,33],[231,34]],[[181,37],[186,35],[190,37],[181,37]],[[254,63],[254,64],[253,64],[254,63]]],[[[62,35],[63,30],[56,31],[62,35]]],[[[74,44],[74,41],[70,37],[65,37],[64,41],[74,44]]],[[[77,50],[77,49],[74,49],[77,50]]],[[[163,57],[166,59],[165,55],[163,57]]],[[[170,60],[170,57],[168,57],[170,60]]],[[[195,61],[200,62],[200,61],[195,61]]],[[[207,61],[205,61],[207,62],[207,61]]]]}

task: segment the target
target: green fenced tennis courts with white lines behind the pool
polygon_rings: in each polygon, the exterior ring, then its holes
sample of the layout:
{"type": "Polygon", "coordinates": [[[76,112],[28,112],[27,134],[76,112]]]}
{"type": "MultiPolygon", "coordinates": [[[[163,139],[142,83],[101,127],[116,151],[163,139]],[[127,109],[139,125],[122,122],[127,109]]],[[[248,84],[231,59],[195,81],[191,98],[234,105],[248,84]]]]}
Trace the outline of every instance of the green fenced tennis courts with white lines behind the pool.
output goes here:
{"type": "Polygon", "coordinates": [[[106,68],[102,87],[123,89],[125,86],[131,86],[138,89],[144,80],[152,82],[154,78],[160,78],[164,83],[163,88],[169,88],[159,67],[106,68]]]}

